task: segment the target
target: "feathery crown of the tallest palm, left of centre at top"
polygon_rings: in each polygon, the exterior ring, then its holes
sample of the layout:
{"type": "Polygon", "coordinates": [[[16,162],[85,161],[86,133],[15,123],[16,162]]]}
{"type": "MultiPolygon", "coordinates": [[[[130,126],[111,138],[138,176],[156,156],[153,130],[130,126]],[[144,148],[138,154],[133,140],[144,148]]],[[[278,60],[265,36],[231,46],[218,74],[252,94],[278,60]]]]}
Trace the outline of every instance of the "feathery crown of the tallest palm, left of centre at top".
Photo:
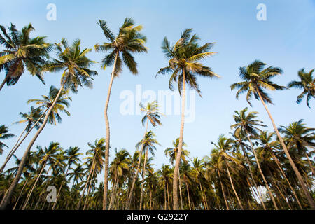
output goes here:
{"type": "Polygon", "coordinates": [[[118,35],[115,35],[107,26],[106,21],[99,20],[98,24],[102,28],[106,39],[109,40],[109,43],[96,44],[94,46],[97,52],[109,52],[102,59],[102,69],[106,69],[107,66],[116,63],[113,76],[118,77],[123,71],[123,64],[125,64],[134,75],[137,74],[137,62],[134,60],[132,54],[147,52],[147,48],[144,46],[146,36],[140,33],[142,26],[134,27],[134,20],[132,18],[125,18],[118,35]]]}

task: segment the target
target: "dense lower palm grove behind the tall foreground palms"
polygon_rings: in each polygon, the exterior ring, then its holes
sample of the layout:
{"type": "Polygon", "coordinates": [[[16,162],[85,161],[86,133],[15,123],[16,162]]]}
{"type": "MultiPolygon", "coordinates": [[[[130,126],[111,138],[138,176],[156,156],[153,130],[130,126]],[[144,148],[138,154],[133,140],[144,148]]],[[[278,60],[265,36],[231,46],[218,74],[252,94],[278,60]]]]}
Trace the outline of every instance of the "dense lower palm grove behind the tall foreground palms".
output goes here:
{"type": "MultiPolygon", "coordinates": [[[[142,107],[146,110],[144,124],[153,117],[153,123],[160,123],[157,106],[153,102],[142,107]]],[[[220,135],[216,143],[211,142],[209,154],[202,159],[190,158],[183,143],[179,209],[311,209],[276,133],[261,130],[267,126],[257,116],[257,112],[248,112],[247,108],[235,111],[230,137],[220,135]]],[[[314,161],[311,160],[314,130],[302,120],[279,127],[309,190],[314,188],[314,161]]],[[[36,151],[29,152],[22,181],[8,206],[11,209],[102,209],[104,182],[97,185],[97,176],[104,167],[105,144],[105,139],[87,144],[89,150],[84,158],[77,146],[66,150],[57,142],[37,146],[36,151]],[[57,189],[55,202],[47,202],[48,186],[57,189]]],[[[149,130],[135,145],[137,151],[133,155],[115,148],[109,166],[109,209],[172,209],[179,138],[165,149],[170,164],[155,170],[152,160],[158,145],[155,134],[149,130]]],[[[14,157],[16,167],[1,174],[1,196],[20,167],[21,160],[14,157]]]]}

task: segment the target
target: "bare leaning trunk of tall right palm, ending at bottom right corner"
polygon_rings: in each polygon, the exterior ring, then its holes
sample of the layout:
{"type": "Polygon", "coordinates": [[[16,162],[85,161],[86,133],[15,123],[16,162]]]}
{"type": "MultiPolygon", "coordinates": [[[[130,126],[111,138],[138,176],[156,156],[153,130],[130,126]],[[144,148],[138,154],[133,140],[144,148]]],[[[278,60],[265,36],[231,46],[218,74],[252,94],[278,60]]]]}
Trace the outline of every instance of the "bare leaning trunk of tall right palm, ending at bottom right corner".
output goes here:
{"type": "Polygon", "coordinates": [[[259,92],[259,90],[257,91],[258,92],[258,95],[259,95],[259,98],[260,98],[260,101],[262,102],[262,104],[264,105],[265,107],[265,110],[267,111],[268,113],[268,116],[270,118],[270,120],[272,121],[272,126],[274,127],[274,131],[276,132],[276,136],[278,137],[280,143],[281,143],[281,146],[283,148],[283,151],[284,153],[286,153],[286,157],[288,158],[289,162],[290,162],[290,165],[291,167],[293,168],[294,172],[295,172],[295,175],[297,176],[297,179],[299,180],[300,182],[300,186],[302,187],[303,191],[304,191],[304,194],[306,195],[307,197],[307,200],[311,206],[311,209],[312,210],[315,210],[315,203],[314,203],[314,200],[313,198],[311,197],[309,191],[307,190],[307,187],[302,179],[302,176],[300,174],[300,172],[298,171],[297,167],[295,166],[295,163],[293,162],[291,156],[290,156],[290,153],[288,152],[288,149],[286,148],[286,144],[284,144],[284,141],[279,133],[279,130],[278,128],[276,127],[276,124],[274,123],[274,119],[272,118],[272,115],[271,113],[269,112],[268,108],[267,108],[267,105],[265,104],[264,100],[262,99],[261,97],[261,94],[259,92]]]}

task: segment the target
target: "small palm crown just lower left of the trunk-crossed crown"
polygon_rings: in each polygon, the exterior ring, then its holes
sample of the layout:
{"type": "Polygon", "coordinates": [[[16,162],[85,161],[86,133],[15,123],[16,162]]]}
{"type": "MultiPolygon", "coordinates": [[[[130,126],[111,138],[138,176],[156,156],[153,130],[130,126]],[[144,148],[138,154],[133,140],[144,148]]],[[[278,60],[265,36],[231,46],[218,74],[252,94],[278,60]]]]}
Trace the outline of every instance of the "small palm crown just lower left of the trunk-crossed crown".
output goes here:
{"type": "Polygon", "coordinates": [[[20,112],[20,116],[22,117],[22,120],[19,120],[15,122],[14,124],[22,124],[27,123],[26,131],[28,132],[31,129],[31,126],[33,126],[36,123],[35,128],[38,130],[40,125],[43,123],[43,113],[41,108],[34,108],[34,106],[31,106],[31,111],[29,113],[22,113],[20,112]],[[38,120],[40,119],[41,120],[38,120]]]}

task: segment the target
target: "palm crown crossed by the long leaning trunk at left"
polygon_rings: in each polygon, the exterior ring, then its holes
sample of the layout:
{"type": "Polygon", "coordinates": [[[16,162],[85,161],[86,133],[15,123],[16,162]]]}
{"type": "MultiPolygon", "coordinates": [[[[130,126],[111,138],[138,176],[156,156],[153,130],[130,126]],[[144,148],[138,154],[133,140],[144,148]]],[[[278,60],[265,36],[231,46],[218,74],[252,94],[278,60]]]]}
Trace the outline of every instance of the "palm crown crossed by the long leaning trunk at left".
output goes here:
{"type": "MultiPolygon", "coordinates": [[[[27,101],[27,104],[34,102],[36,105],[38,105],[37,109],[49,109],[50,106],[52,106],[53,102],[55,101],[55,98],[57,97],[57,94],[59,92],[59,89],[54,87],[53,85],[50,87],[48,96],[42,95],[41,97],[43,99],[29,99],[27,101]]],[[[49,114],[49,123],[56,125],[56,119],[58,123],[62,122],[62,118],[59,115],[59,112],[66,113],[67,116],[70,116],[69,111],[66,110],[66,107],[69,107],[69,101],[71,101],[71,97],[68,97],[69,90],[63,90],[60,94],[60,97],[57,99],[57,102],[55,106],[53,107],[51,113],[49,114]]]]}

